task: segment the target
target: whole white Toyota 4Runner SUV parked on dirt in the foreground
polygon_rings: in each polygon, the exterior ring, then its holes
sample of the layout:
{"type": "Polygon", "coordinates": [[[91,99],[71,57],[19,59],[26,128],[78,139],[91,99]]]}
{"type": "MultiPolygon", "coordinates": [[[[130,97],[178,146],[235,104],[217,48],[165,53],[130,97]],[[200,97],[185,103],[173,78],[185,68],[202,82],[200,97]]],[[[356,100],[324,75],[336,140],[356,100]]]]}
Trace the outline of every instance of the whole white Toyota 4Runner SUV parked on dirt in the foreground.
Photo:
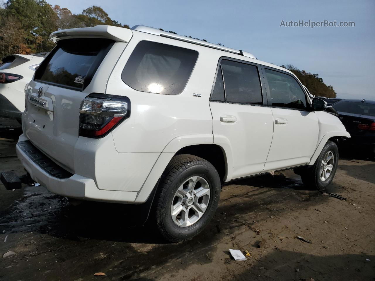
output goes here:
{"type": "Polygon", "coordinates": [[[335,175],[350,135],[287,69],[141,25],[50,37],[17,154],[53,193],[144,203],[177,241],[207,225],[225,182],[297,168],[321,189],[335,175]]]}

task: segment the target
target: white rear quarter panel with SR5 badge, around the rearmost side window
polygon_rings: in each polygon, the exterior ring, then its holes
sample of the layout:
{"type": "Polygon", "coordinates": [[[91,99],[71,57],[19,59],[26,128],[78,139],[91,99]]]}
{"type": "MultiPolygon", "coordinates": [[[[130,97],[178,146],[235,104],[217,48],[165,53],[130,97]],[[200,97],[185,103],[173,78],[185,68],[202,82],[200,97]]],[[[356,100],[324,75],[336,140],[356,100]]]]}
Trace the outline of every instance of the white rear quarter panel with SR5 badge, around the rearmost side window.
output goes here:
{"type": "MultiPolygon", "coordinates": [[[[212,134],[212,116],[208,99],[217,60],[218,55],[212,49],[134,32],[132,40],[111,74],[106,90],[106,94],[127,96],[131,102],[130,118],[112,132],[116,150],[160,153],[172,139],[179,136],[212,134]],[[157,40],[160,43],[199,52],[189,81],[180,94],[166,95],[136,91],[121,80],[126,61],[141,40],[157,40]],[[201,97],[194,97],[193,93],[201,94],[201,97]]],[[[178,150],[178,146],[174,147],[178,150]]]]}

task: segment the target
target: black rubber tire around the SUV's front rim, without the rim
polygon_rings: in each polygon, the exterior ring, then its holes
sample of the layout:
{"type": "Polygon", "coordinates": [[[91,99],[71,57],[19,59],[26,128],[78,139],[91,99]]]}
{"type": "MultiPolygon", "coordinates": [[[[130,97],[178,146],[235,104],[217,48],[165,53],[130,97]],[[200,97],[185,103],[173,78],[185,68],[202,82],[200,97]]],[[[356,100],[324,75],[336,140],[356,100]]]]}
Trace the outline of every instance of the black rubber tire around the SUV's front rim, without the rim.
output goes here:
{"type": "Polygon", "coordinates": [[[311,189],[324,190],[332,182],[333,177],[335,176],[337,166],[338,166],[338,161],[339,161],[339,149],[335,142],[328,141],[326,145],[323,147],[322,151],[320,152],[314,165],[306,169],[303,173],[301,173],[301,179],[302,179],[303,184],[305,184],[307,187],[311,189]],[[335,156],[333,168],[329,177],[325,181],[322,181],[320,178],[320,166],[321,166],[323,157],[329,151],[332,151],[333,155],[335,156]]]}

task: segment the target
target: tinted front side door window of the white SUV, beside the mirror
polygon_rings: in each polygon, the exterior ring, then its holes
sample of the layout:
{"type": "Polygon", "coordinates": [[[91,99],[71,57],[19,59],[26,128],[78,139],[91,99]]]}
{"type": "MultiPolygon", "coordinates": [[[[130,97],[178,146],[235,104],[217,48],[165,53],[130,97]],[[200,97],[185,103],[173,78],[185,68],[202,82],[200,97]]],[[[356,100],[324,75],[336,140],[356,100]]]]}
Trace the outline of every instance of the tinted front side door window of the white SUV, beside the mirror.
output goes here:
{"type": "Polygon", "coordinates": [[[296,79],[275,70],[265,69],[273,106],[306,108],[306,96],[296,79]]]}

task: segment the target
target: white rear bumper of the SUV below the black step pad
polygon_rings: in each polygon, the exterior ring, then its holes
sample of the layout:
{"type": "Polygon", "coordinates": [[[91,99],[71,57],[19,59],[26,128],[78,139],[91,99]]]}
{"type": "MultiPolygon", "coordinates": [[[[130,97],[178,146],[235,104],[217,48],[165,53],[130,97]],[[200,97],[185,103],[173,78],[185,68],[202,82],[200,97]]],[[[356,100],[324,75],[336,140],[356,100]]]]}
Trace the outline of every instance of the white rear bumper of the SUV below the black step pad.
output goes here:
{"type": "MultiPolygon", "coordinates": [[[[25,135],[21,135],[18,143],[27,140],[25,135]]],[[[117,203],[133,203],[136,199],[135,191],[101,190],[96,186],[94,179],[78,174],[69,178],[56,178],[38,166],[19,145],[16,146],[16,151],[31,178],[52,193],[76,199],[117,203]]]]}

